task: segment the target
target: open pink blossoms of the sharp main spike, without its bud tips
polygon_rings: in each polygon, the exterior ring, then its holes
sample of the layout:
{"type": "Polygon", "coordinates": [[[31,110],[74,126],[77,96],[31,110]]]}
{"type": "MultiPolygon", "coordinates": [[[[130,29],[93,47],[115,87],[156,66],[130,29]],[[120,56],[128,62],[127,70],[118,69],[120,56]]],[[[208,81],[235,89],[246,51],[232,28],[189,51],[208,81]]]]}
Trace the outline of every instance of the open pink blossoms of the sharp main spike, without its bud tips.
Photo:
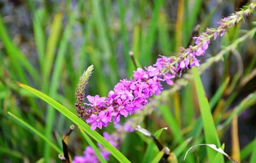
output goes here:
{"type": "MultiPolygon", "coordinates": [[[[195,37],[196,44],[200,44],[200,37],[195,37]]],[[[180,57],[174,58],[161,57],[156,64],[143,70],[137,68],[130,80],[120,80],[114,89],[108,93],[108,97],[87,96],[89,103],[83,118],[87,123],[92,124],[91,129],[108,126],[109,122],[114,124],[120,121],[120,117],[127,117],[148,103],[148,98],[159,95],[163,86],[161,82],[173,85],[173,78],[180,76],[184,69],[192,66],[199,66],[196,56],[203,55],[208,48],[209,41],[205,41],[196,51],[187,49],[181,53],[180,57]],[[189,53],[184,57],[185,53],[189,53]]]]}

